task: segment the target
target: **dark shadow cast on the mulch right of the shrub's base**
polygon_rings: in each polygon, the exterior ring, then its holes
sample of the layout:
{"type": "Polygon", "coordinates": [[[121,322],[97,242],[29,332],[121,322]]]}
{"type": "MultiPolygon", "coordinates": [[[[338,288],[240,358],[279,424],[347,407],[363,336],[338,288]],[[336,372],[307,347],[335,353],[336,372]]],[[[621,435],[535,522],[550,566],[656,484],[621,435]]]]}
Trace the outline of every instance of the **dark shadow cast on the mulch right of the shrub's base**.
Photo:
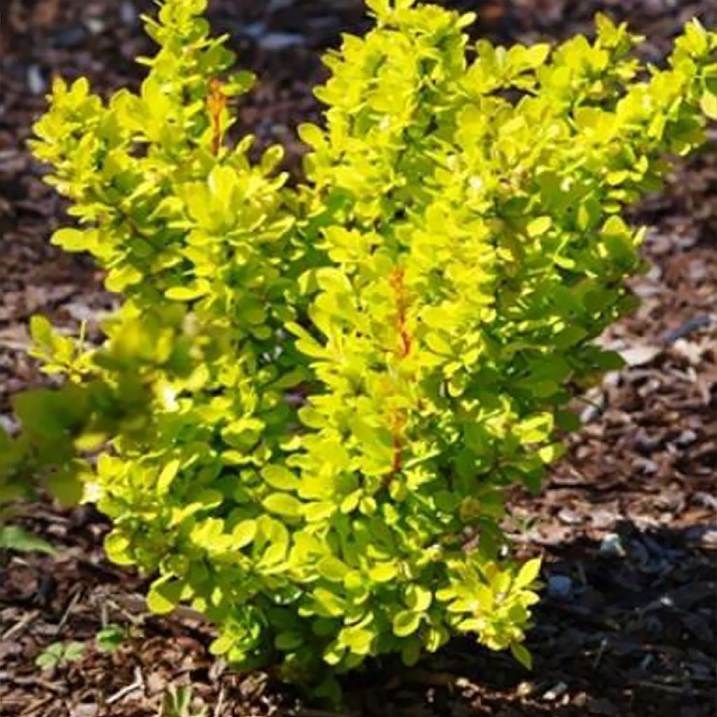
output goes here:
{"type": "Polygon", "coordinates": [[[600,540],[550,546],[528,636],[532,672],[455,640],[417,670],[386,660],[347,680],[349,703],[371,716],[710,717],[717,554],[697,544],[712,529],[623,522],[600,540]],[[394,674],[402,682],[386,684],[394,674]]]}

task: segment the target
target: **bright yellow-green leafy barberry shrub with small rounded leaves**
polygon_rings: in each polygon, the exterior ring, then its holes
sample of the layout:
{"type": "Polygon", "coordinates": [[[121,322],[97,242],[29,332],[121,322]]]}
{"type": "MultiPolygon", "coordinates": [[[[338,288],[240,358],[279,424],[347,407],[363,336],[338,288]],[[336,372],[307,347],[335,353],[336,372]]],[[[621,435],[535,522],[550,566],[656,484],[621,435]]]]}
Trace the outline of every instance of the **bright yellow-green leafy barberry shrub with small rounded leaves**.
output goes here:
{"type": "Polygon", "coordinates": [[[604,16],[594,42],[506,49],[470,15],[368,4],[297,186],[280,147],[227,139],[252,77],[206,0],[146,19],[138,95],[54,82],[33,148],[78,228],[52,240],[125,300],[102,346],[33,320],[67,381],[16,399],[2,459],[6,491],[44,470],[97,502],[154,612],[189,602],[213,652],[326,689],[460,633],[530,662],[538,561],[508,557],[505,488],[538,489],[571,386],[616,366],[594,340],[642,266],[622,211],[717,115],[696,20],[657,70],[604,16]]]}

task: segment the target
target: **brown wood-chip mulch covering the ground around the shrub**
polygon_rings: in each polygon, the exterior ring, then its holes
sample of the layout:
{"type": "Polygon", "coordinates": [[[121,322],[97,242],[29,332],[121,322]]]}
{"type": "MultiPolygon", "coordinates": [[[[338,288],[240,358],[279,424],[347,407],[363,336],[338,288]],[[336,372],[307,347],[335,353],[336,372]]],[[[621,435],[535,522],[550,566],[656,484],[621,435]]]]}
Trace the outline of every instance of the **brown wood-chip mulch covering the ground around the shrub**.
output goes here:
{"type": "MultiPolygon", "coordinates": [[[[502,42],[566,37],[597,9],[630,22],[660,57],[680,24],[717,25],[711,0],[460,0],[478,29],[502,42]]],[[[96,329],[116,300],[83,257],[47,241],[65,221],[27,153],[32,118],[54,73],[89,75],[102,92],[136,84],[132,58],[149,47],[138,14],[149,1],[7,0],[1,32],[0,422],[9,397],[47,381],[25,354],[27,321],[44,313],[67,331],[96,329]]],[[[310,95],[321,49],[364,27],[354,0],[214,0],[260,85],[242,130],[283,143],[296,166],[293,127],[318,117],[310,95]]],[[[528,672],[511,657],[457,640],[418,668],[388,659],[344,680],[347,715],[396,717],[710,717],[717,715],[717,137],[680,166],[632,219],[650,227],[652,268],[632,282],[642,305],[604,341],[628,365],[576,399],[583,427],[537,498],[516,492],[509,527],[521,554],[546,558],[546,589],[528,646],[528,672]]],[[[158,619],[145,581],[108,564],[105,521],[87,507],[41,503],[22,522],[57,556],[5,556],[0,585],[3,717],[141,717],[171,685],[191,683],[215,717],[328,717],[263,673],[237,675],[206,651],[211,628],[195,614],[158,619]],[[118,652],[95,635],[118,624],[118,652]],[[41,670],[58,640],[85,642],[75,663],[41,670]]]]}

